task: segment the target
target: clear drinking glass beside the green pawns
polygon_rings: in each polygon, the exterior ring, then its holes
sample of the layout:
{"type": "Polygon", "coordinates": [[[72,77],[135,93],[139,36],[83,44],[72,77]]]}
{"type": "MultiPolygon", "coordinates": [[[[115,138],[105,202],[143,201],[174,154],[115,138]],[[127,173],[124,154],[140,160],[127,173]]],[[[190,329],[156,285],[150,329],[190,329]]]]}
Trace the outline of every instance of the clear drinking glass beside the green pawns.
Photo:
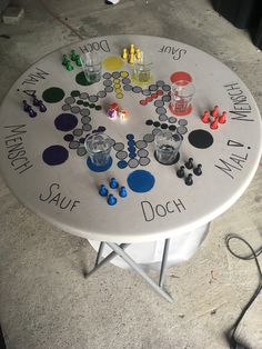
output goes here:
{"type": "Polygon", "coordinates": [[[102,58],[98,52],[87,52],[83,72],[89,83],[100,81],[102,73],[102,58]]]}

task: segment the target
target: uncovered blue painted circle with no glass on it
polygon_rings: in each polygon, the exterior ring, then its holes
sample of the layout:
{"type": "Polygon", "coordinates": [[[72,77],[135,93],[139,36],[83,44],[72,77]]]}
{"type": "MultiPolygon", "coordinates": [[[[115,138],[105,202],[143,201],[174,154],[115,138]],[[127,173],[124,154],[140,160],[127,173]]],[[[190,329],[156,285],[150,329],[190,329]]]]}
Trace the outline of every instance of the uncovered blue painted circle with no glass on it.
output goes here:
{"type": "Polygon", "coordinates": [[[154,177],[149,171],[137,170],[129,174],[128,185],[134,192],[148,192],[154,186],[154,177]]]}

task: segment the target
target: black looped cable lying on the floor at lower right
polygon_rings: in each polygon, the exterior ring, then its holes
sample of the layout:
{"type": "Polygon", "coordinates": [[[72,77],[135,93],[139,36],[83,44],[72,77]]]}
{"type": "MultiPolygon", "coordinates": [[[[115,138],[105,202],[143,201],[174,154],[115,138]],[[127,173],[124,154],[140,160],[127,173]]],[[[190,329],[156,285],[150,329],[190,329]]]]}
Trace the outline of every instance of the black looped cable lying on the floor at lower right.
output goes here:
{"type": "Polygon", "coordinates": [[[255,298],[259,296],[260,291],[262,290],[262,272],[261,272],[261,268],[259,265],[259,260],[258,257],[262,253],[262,246],[255,251],[252,246],[242,237],[238,236],[238,235],[228,235],[225,237],[225,246],[228,248],[228,250],[230,251],[230,253],[232,253],[234,257],[239,258],[239,259],[243,259],[243,260],[251,260],[254,259],[258,271],[259,271],[259,285],[258,288],[255,289],[253,296],[250,298],[250,300],[248,301],[248,303],[244,306],[243,310],[241,311],[240,316],[238,317],[236,321],[234,322],[233,327],[230,329],[230,348],[231,349],[248,349],[246,347],[240,345],[236,339],[235,339],[235,331],[236,328],[240,323],[240,321],[243,319],[245,312],[249,310],[249,308],[251,307],[251,305],[253,303],[253,301],[255,300],[255,298]],[[235,253],[231,247],[230,247],[230,241],[232,239],[236,239],[236,240],[241,240],[242,242],[244,242],[249,249],[251,250],[251,255],[249,256],[240,256],[238,253],[235,253]]]}

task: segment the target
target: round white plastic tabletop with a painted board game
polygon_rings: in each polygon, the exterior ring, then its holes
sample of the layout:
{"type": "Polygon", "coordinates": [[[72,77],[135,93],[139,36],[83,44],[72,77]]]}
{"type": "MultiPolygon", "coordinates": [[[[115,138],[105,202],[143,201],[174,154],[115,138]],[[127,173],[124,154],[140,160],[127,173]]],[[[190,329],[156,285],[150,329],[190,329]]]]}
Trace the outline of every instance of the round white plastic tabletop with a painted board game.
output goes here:
{"type": "Polygon", "coordinates": [[[93,240],[154,241],[206,225],[243,193],[261,157],[260,112],[241,79],[203,51],[158,37],[93,38],[46,56],[7,93],[0,127],[0,168],[17,198],[64,231],[93,240]],[[121,59],[122,49],[132,42],[152,54],[147,84],[135,81],[132,66],[121,59]],[[66,69],[62,54],[70,58],[71,49],[82,56],[91,50],[102,54],[99,82],[88,86],[74,62],[72,71],[66,69]],[[178,71],[190,74],[195,86],[192,112],[183,117],[169,108],[178,71]],[[30,118],[22,100],[32,106],[33,93],[47,111],[32,107],[37,117],[30,118]],[[110,119],[105,111],[111,102],[129,110],[129,118],[110,119]],[[228,120],[212,130],[201,116],[215,104],[220,113],[228,112],[228,120]],[[183,136],[173,166],[154,158],[153,138],[161,128],[183,136]],[[114,140],[112,166],[97,172],[87,164],[83,140],[103,130],[114,140]],[[175,172],[191,157],[203,173],[193,174],[193,185],[187,186],[175,172]],[[145,172],[137,172],[141,170],[145,172]],[[109,188],[111,177],[125,186],[127,198],[109,188]],[[101,183],[117,197],[115,206],[99,195],[101,183]]]}

